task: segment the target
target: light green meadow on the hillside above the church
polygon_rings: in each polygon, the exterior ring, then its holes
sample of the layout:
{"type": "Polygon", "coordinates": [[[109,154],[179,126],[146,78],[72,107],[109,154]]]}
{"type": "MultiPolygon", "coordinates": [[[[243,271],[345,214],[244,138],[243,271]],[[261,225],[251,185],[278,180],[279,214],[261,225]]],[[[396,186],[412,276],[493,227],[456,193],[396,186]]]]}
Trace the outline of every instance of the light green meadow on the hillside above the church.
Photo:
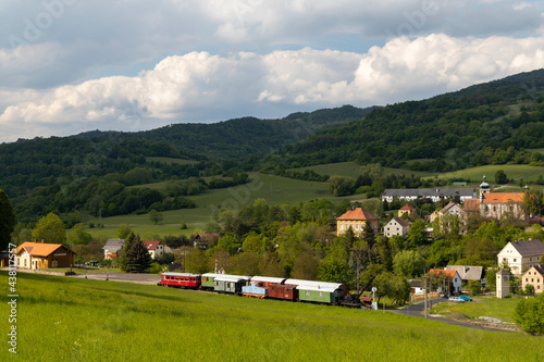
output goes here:
{"type": "Polygon", "coordinates": [[[481,183],[483,175],[487,176],[487,183],[495,183],[495,173],[498,170],[503,170],[510,179],[523,178],[524,180],[535,180],[540,175],[544,176],[544,167],[541,166],[529,166],[529,165],[487,165],[471,167],[466,170],[459,170],[454,172],[448,172],[441,174],[438,178],[463,178],[470,179],[473,183],[481,183]]]}

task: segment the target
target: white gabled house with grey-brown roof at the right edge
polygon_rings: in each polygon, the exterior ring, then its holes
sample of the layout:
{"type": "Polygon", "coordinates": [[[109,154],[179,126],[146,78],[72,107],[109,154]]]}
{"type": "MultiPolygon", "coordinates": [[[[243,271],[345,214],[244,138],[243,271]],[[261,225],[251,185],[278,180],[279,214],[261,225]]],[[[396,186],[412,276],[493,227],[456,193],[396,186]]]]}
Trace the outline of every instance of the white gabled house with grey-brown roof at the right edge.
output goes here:
{"type": "Polygon", "coordinates": [[[497,254],[499,266],[510,266],[511,273],[521,275],[533,265],[539,264],[544,255],[541,240],[511,241],[497,254]]]}

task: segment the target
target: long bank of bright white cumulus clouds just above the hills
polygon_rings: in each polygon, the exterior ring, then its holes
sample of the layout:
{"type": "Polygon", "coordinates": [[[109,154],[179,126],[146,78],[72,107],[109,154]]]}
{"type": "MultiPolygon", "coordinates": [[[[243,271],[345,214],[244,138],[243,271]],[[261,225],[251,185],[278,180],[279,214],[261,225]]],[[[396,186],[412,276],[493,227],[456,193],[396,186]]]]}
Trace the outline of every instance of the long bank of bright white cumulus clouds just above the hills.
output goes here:
{"type": "MultiPolygon", "coordinates": [[[[49,129],[44,134],[48,136],[61,127],[137,130],[180,121],[221,121],[254,115],[262,108],[284,115],[294,105],[384,104],[543,64],[544,38],[442,34],[397,38],[362,54],[311,48],[264,55],[190,52],[166,57],[153,70],[133,77],[103,77],[41,91],[1,91],[9,97],[0,127],[26,124],[36,132],[49,129]]],[[[13,140],[15,136],[9,135],[2,132],[0,140],[13,140]]]]}

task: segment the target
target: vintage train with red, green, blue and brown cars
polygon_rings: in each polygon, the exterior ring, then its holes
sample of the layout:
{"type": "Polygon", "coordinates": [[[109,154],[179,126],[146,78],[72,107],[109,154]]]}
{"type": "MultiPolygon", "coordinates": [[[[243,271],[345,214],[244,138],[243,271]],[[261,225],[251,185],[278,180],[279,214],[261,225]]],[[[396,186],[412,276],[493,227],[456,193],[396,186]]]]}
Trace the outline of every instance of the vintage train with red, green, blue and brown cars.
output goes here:
{"type": "Polygon", "coordinates": [[[279,299],[322,304],[361,307],[360,298],[353,298],[342,283],[289,279],[269,276],[230,274],[161,273],[161,286],[198,290],[213,290],[260,299],[279,299]]]}

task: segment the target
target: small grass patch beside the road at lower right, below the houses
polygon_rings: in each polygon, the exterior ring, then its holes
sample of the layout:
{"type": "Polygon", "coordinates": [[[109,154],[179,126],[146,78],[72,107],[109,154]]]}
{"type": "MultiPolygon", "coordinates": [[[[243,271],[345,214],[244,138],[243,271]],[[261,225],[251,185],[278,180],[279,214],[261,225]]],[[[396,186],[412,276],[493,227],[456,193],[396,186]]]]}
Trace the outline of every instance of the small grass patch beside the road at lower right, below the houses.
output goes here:
{"type": "Polygon", "coordinates": [[[503,322],[514,323],[514,309],[518,303],[517,298],[498,299],[495,297],[473,297],[474,299],[483,299],[482,302],[466,302],[454,303],[446,302],[434,305],[433,314],[442,314],[448,316],[452,313],[462,313],[475,320],[479,316],[493,316],[503,322]]]}

